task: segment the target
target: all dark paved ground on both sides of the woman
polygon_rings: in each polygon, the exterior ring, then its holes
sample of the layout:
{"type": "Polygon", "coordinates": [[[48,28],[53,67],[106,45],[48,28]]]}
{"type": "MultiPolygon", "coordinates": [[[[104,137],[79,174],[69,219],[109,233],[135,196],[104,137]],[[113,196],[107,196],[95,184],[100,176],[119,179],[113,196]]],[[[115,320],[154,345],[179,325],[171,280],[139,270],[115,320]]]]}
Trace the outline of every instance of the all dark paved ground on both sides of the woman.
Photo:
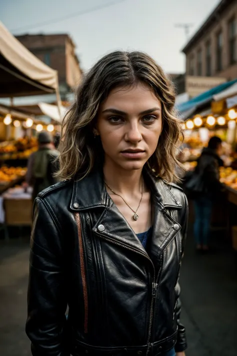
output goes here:
{"type": "MultiPolygon", "coordinates": [[[[196,255],[189,231],[181,271],[186,356],[236,356],[236,256],[214,233],[212,254],[196,255]]],[[[0,356],[29,356],[24,333],[28,239],[0,241],[0,356]]]]}

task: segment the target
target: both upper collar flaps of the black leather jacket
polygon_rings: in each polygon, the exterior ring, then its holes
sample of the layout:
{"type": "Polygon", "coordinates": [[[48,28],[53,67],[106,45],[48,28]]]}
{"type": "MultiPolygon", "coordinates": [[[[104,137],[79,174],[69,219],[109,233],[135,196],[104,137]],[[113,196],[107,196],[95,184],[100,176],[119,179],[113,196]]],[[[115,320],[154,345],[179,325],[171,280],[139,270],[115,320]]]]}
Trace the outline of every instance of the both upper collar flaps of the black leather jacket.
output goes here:
{"type": "MultiPolygon", "coordinates": [[[[162,208],[181,209],[181,203],[171,192],[171,185],[162,179],[155,179],[144,170],[145,180],[150,186],[154,202],[162,208]]],[[[94,171],[80,181],[74,180],[70,202],[72,211],[87,210],[96,207],[106,207],[109,196],[106,192],[102,171],[94,171]]]]}

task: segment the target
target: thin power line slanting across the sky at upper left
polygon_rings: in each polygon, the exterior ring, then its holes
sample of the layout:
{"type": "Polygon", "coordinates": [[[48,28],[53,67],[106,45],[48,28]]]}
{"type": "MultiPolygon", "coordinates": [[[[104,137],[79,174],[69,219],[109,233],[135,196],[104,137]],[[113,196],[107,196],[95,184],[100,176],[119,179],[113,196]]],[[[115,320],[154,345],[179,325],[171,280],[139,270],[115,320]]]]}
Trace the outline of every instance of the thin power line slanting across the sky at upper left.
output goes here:
{"type": "Polygon", "coordinates": [[[77,17],[77,16],[89,14],[89,13],[92,13],[92,12],[97,11],[97,10],[105,9],[105,8],[110,7],[110,6],[117,5],[119,3],[123,3],[124,1],[127,1],[127,0],[116,0],[116,1],[113,1],[113,2],[110,2],[110,3],[105,3],[103,5],[94,6],[94,7],[90,8],[90,9],[78,11],[76,13],[74,12],[73,14],[69,14],[69,15],[61,17],[61,18],[55,18],[55,19],[52,19],[52,20],[47,20],[47,21],[36,23],[36,24],[33,24],[33,25],[18,27],[16,29],[11,30],[11,32],[21,31],[21,30],[25,30],[25,29],[26,30],[35,29],[36,27],[40,27],[40,26],[48,26],[48,25],[56,24],[56,23],[64,21],[64,20],[68,20],[68,19],[71,19],[71,18],[74,18],[74,17],[77,17]]]}

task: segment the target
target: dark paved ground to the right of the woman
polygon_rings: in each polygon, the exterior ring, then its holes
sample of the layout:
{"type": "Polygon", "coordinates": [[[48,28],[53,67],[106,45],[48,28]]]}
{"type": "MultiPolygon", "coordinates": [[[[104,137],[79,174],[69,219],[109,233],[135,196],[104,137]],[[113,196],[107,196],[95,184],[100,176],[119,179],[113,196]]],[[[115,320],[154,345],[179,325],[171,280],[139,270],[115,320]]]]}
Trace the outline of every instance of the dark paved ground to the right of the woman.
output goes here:
{"type": "Polygon", "coordinates": [[[237,355],[237,256],[212,232],[213,252],[197,255],[189,232],[180,284],[187,356],[237,355]]]}

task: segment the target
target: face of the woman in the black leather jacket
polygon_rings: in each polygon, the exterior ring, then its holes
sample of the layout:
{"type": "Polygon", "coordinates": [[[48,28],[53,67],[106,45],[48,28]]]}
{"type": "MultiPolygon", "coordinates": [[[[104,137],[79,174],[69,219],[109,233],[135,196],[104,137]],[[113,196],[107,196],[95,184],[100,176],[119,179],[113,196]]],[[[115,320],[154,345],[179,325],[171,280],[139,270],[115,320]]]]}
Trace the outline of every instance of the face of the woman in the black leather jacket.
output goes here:
{"type": "Polygon", "coordinates": [[[104,164],[141,169],[154,153],[162,127],[161,103],[144,84],[113,89],[100,105],[95,133],[104,164]]]}

